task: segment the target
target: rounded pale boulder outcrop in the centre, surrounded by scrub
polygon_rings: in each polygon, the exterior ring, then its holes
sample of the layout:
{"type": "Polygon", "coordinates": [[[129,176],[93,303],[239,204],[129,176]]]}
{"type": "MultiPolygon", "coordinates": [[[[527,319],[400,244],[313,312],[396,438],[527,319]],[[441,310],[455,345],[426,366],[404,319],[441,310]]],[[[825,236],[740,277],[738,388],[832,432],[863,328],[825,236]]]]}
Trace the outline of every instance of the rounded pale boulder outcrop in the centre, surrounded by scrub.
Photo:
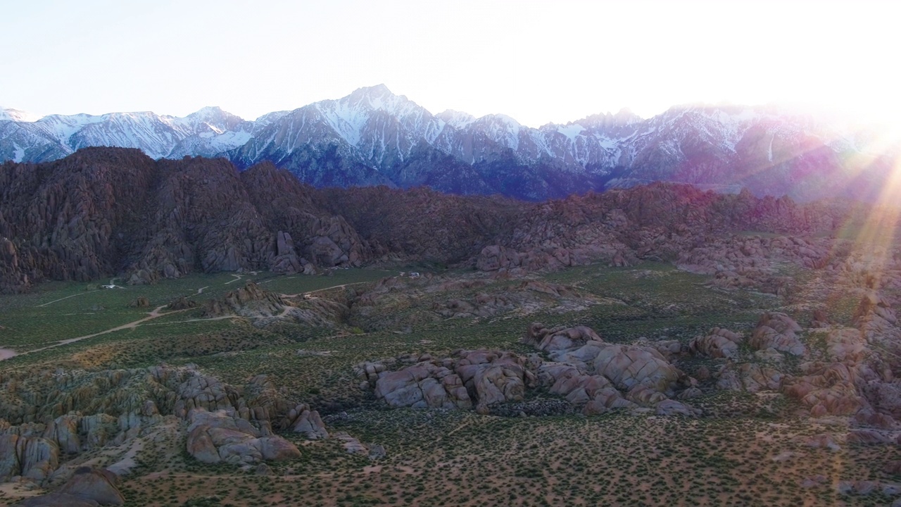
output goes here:
{"type": "MultiPolygon", "coordinates": [[[[442,359],[420,355],[363,363],[355,372],[360,387],[396,407],[475,407],[489,413],[498,404],[522,402],[526,390],[543,388],[586,414],[639,407],[661,415],[698,413],[672,399],[700,394],[694,379],[653,346],[608,344],[588,327],[547,328],[538,323],[523,341],[551,360],[538,354],[461,350],[442,359]],[[398,364],[408,365],[392,371],[398,364]]],[[[525,413],[524,407],[515,411],[525,413]]]]}

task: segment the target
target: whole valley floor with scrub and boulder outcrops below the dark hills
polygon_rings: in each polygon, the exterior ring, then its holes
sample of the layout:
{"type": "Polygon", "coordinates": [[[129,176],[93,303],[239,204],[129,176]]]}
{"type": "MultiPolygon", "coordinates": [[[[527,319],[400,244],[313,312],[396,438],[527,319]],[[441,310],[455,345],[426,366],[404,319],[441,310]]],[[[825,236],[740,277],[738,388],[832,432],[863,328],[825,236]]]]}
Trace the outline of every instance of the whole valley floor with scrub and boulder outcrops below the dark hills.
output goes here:
{"type": "Polygon", "coordinates": [[[773,264],[775,294],[653,262],[45,282],[0,297],[0,424],[35,447],[0,503],[90,466],[126,505],[891,504],[854,380],[897,372],[867,334],[897,339],[901,279],[861,255],[773,264]]]}

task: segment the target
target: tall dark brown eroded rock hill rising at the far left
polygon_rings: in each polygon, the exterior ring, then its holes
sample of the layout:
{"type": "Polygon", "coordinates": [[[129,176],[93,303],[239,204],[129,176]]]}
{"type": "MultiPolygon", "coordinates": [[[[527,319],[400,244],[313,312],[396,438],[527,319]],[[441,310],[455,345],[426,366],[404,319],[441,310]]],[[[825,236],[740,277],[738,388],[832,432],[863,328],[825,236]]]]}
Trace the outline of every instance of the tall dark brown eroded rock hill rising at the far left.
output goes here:
{"type": "Polygon", "coordinates": [[[239,173],[221,159],[153,161],[139,150],[88,148],[0,171],[0,291],[117,274],[134,284],[189,272],[313,264],[371,256],[314,190],[260,164],[239,173]],[[45,238],[45,239],[39,239],[45,238]]]}

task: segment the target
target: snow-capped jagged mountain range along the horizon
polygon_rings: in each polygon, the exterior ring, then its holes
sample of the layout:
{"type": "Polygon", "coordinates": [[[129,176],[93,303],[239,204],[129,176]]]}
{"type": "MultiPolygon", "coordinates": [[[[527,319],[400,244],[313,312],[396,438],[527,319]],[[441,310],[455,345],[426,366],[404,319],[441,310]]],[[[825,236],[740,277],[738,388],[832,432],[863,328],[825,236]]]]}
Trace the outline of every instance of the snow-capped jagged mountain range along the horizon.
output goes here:
{"type": "Polygon", "coordinates": [[[246,121],[218,107],[49,115],[0,108],[0,161],[51,161],[86,146],[150,157],[261,161],[314,185],[409,187],[517,198],[560,197],[652,180],[796,198],[872,198],[898,144],[772,106],[628,110],[531,128],[506,115],[432,115],[384,85],[246,121]]]}

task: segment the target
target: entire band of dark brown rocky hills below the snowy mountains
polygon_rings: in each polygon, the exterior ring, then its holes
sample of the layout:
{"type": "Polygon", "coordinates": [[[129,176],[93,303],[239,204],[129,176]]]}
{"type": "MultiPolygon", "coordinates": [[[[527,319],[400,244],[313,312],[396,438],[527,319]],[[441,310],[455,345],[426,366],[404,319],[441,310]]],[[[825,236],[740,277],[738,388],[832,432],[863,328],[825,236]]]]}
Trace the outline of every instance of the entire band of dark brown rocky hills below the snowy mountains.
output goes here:
{"type": "Polygon", "coordinates": [[[271,163],[90,148],[0,166],[0,289],[375,262],[552,269],[676,261],[727,231],[828,233],[847,206],[655,184],[532,204],[431,189],[314,189],[271,163]],[[487,250],[486,250],[487,249],[487,250]],[[478,259],[477,259],[478,257],[478,259]]]}

